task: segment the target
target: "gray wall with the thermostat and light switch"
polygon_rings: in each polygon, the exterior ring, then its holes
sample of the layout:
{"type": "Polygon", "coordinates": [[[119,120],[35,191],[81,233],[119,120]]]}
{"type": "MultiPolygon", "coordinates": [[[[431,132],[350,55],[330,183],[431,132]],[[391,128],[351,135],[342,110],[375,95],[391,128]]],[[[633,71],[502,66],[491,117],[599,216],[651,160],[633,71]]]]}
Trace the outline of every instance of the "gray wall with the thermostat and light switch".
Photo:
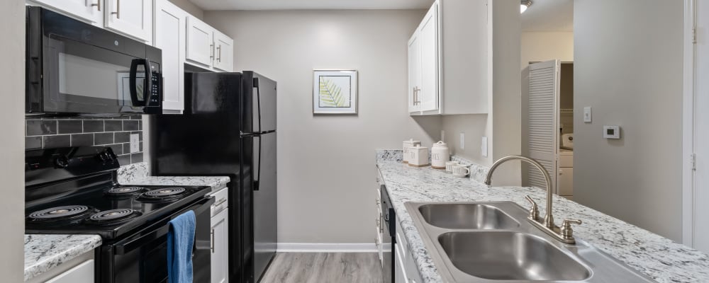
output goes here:
{"type": "Polygon", "coordinates": [[[574,2],[574,200],[681,241],[683,2],[651,3],[574,2]]]}

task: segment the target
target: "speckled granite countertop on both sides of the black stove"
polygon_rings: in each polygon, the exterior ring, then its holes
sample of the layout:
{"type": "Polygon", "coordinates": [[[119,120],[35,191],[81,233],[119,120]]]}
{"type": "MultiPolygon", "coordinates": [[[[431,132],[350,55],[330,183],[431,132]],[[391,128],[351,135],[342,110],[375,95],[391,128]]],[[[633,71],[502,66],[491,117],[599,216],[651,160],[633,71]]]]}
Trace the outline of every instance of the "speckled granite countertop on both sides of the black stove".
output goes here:
{"type": "MultiPolygon", "coordinates": [[[[118,169],[121,185],[210,186],[219,190],[230,182],[224,176],[169,177],[150,176],[147,163],[140,162],[118,169]]],[[[98,235],[25,235],[25,281],[101,246],[98,235]]]]}

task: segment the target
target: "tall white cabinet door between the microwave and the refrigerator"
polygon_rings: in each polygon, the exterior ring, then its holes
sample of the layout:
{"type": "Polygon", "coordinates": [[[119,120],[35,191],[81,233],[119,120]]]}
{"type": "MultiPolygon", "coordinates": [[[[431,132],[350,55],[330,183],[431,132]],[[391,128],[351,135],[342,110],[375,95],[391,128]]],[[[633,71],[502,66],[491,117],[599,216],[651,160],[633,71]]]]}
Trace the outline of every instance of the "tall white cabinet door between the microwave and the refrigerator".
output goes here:
{"type": "Polygon", "coordinates": [[[184,52],[187,13],[168,0],[155,1],[155,47],[162,50],[162,109],[184,110],[184,52]]]}

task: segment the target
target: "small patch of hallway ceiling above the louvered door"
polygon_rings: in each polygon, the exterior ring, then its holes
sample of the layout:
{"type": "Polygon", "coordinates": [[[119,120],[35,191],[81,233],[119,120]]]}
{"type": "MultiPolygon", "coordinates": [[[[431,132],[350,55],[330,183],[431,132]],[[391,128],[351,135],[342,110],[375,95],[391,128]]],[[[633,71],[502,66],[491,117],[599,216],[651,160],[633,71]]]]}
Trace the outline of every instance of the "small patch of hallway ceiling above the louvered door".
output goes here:
{"type": "Polygon", "coordinates": [[[574,0],[532,0],[522,13],[523,31],[573,31],[574,0]]]}

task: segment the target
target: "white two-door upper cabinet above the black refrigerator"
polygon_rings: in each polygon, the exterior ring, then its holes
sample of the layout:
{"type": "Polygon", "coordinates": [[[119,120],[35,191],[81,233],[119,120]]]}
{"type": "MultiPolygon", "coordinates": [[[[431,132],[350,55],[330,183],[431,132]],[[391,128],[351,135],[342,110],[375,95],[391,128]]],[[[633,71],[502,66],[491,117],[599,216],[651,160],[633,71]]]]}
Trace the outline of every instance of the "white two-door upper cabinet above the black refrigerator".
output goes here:
{"type": "Polygon", "coordinates": [[[213,69],[234,69],[234,40],[198,18],[187,17],[187,63],[213,69]]]}

